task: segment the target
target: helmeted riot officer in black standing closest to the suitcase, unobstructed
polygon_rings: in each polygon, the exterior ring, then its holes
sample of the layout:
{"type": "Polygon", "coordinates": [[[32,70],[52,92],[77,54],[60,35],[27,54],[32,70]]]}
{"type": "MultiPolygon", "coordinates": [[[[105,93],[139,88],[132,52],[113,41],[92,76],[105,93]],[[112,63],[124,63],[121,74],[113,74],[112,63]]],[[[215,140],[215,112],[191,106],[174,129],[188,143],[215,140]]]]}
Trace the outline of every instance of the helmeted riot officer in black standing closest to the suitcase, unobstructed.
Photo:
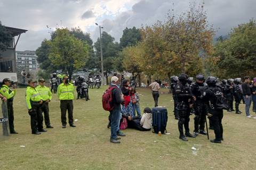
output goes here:
{"type": "MultiPolygon", "coordinates": [[[[188,141],[188,139],[185,137],[195,138],[194,135],[189,133],[189,116],[190,116],[190,107],[191,100],[193,99],[191,91],[189,89],[189,86],[187,84],[188,82],[188,75],[185,73],[182,73],[179,75],[179,82],[174,88],[174,95],[178,99],[178,112],[179,112],[179,122],[178,122],[178,129],[180,132],[180,139],[183,141],[188,141]],[[183,133],[183,125],[185,128],[185,135],[183,133]]],[[[195,97],[194,97],[195,99],[195,97]]]]}

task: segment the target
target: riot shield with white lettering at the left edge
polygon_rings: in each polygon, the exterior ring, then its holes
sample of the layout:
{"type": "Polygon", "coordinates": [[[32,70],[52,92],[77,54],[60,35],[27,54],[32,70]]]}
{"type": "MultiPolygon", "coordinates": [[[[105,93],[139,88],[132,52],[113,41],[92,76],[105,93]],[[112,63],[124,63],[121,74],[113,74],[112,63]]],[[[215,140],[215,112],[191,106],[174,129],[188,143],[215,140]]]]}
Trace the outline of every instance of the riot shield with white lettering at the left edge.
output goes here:
{"type": "Polygon", "coordinates": [[[9,122],[8,122],[8,113],[7,113],[7,103],[0,101],[0,137],[9,135],[9,122]],[[2,134],[1,134],[2,133],[2,134]]]}

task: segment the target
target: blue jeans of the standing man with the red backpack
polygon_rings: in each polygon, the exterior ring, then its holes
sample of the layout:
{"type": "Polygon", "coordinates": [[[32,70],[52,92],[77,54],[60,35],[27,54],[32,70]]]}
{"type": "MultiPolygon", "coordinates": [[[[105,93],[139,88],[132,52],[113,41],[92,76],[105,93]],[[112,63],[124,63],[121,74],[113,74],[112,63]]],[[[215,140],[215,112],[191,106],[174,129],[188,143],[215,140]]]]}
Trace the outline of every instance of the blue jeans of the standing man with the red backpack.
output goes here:
{"type": "Polygon", "coordinates": [[[119,131],[119,124],[121,120],[121,111],[120,110],[112,110],[110,111],[111,115],[111,139],[116,139],[116,132],[119,131]]]}

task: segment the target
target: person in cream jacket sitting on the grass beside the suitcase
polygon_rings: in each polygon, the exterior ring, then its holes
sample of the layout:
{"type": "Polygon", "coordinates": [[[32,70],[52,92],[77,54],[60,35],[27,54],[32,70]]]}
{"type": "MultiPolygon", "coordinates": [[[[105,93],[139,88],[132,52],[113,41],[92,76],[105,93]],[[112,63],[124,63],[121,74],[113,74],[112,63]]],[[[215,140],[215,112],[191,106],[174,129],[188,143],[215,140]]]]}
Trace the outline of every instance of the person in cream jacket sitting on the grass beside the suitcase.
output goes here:
{"type": "Polygon", "coordinates": [[[151,109],[146,107],[142,118],[132,117],[130,115],[122,115],[122,118],[127,120],[127,128],[137,129],[139,131],[150,131],[152,127],[152,114],[151,109]]]}

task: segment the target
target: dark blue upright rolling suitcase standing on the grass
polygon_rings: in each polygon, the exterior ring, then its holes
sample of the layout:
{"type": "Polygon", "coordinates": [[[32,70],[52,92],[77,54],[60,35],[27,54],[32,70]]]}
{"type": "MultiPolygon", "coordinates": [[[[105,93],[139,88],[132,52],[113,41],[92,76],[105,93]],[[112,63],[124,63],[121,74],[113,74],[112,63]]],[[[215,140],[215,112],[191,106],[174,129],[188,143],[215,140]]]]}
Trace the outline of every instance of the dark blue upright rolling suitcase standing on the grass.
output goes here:
{"type": "Polygon", "coordinates": [[[152,108],[152,117],[153,132],[158,133],[160,131],[162,134],[165,134],[168,120],[167,109],[165,107],[152,108]]]}

